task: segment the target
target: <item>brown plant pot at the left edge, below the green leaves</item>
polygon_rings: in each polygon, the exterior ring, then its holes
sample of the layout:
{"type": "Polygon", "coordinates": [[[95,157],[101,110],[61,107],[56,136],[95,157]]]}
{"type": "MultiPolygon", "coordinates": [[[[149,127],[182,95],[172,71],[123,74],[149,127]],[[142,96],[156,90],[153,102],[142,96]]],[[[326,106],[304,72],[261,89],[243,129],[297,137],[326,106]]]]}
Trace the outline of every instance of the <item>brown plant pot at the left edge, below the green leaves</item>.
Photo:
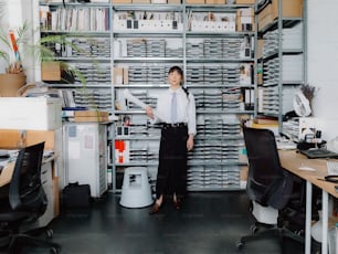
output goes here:
{"type": "Polygon", "coordinates": [[[25,75],[0,74],[0,97],[18,97],[18,89],[25,84],[25,75]]]}

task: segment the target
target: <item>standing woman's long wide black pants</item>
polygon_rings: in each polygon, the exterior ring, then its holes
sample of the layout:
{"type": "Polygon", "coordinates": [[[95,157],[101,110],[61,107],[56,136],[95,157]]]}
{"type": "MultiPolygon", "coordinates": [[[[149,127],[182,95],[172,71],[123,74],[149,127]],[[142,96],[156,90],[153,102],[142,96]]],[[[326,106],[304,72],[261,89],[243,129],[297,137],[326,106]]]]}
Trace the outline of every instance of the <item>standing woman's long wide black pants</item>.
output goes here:
{"type": "Polygon", "coordinates": [[[187,140],[187,126],[162,127],[156,182],[157,199],[162,194],[176,193],[180,199],[186,195],[187,140]]]}

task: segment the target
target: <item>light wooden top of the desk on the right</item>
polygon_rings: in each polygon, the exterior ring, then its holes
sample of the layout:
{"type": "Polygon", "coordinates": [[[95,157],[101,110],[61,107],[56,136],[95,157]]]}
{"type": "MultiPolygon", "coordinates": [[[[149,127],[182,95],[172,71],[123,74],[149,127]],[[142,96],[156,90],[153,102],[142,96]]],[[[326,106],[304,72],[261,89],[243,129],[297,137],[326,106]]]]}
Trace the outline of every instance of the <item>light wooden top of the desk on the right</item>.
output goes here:
{"type": "Polygon", "coordinates": [[[327,191],[335,198],[338,198],[338,192],[336,192],[335,190],[335,186],[337,186],[338,183],[318,180],[324,179],[324,177],[328,174],[325,159],[308,159],[306,156],[296,152],[295,150],[279,150],[278,154],[283,168],[307,181],[310,181],[313,184],[327,191]],[[300,170],[300,166],[310,167],[317,170],[300,170]]]}

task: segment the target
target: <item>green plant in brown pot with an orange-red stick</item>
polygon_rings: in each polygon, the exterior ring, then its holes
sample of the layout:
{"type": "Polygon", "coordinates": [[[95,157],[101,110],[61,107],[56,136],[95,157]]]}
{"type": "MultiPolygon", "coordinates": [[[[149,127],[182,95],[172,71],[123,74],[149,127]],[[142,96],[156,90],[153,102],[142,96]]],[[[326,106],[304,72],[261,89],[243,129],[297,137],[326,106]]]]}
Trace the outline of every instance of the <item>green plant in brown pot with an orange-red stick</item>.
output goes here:
{"type": "MultiPolygon", "coordinates": [[[[25,72],[22,66],[22,61],[25,57],[33,59],[42,66],[50,65],[59,66],[60,72],[66,73],[67,76],[76,75],[82,84],[86,81],[78,70],[70,66],[67,63],[59,61],[55,57],[54,51],[49,47],[53,43],[62,43],[75,47],[66,40],[66,35],[47,35],[41,38],[35,43],[30,43],[29,32],[31,32],[29,24],[24,22],[17,31],[6,33],[0,28],[0,61],[6,63],[6,73],[0,74],[0,96],[15,96],[17,91],[25,84],[25,72]]],[[[81,51],[81,49],[76,49],[81,51]]],[[[61,75],[60,75],[61,76],[61,75]]],[[[70,81],[65,80],[64,83],[70,81]]]]}

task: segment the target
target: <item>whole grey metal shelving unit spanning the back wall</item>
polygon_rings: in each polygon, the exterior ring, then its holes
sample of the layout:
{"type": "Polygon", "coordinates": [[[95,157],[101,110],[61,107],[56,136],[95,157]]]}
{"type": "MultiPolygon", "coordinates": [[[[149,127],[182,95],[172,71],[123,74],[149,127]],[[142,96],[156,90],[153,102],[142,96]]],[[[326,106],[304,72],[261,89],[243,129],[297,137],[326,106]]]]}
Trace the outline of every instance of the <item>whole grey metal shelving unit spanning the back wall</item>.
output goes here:
{"type": "MultiPolygon", "coordinates": [[[[198,135],[188,158],[188,190],[243,188],[240,119],[252,117],[256,107],[254,4],[66,3],[67,8],[109,10],[105,31],[49,30],[41,34],[64,33],[85,42],[95,36],[109,44],[88,59],[72,54],[62,60],[78,63],[74,65],[78,67],[94,59],[106,71],[105,80],[86,77],[85,91],[95,91],[98,95],[92,102],[119,117],[108,131],[113,191],[119,192],[126,167],[147,167],[150,179],[156,180],[160,126],[151,125],[144,110],[125,100],[123,92],[128,88],[156,107],[157,95],[168,88],[172,65],[183,68],[186,86],[197,103],[198,135]]],[[[87,52],[88,43],[84,44],[87,52]]],[[[86,96],[76,94],[82,87],[78,81],[52,86],[73,89],[75,102],[86,105],[86,96]]]]}

